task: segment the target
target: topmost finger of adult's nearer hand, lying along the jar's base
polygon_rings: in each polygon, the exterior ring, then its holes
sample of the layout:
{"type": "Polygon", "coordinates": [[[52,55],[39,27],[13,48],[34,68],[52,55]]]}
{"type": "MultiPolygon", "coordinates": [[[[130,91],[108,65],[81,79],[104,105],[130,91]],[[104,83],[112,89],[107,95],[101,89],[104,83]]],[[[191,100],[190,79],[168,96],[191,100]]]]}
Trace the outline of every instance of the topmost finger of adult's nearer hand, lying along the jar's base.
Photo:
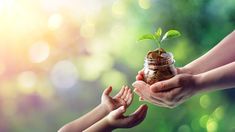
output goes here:
{"type": "Polygon", "coordinates": [[[175,76],[168,80],[156,82],[150,86],[152,92],[161,92],[171,90],[175,87],[179,87],[179,79],[175,76]]]}

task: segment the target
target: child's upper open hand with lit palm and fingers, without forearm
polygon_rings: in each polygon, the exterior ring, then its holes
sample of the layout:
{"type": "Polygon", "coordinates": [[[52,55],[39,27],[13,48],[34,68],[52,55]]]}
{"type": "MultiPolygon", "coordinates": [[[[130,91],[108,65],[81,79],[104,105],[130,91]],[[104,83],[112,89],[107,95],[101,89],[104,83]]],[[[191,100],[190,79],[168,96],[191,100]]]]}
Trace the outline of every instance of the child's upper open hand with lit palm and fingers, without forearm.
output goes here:
{"type": "Polygon", "coordinates": [[[104,105],[108,112],[117,109],[120,106],[128,107],[133,99],[133,93],[127,86],[122,86],[122,89],[114,97],[110,97],[109,94],[112,92],[112,87],[108,87],[104,90],[101,98],[101,104],[104,105]]]}

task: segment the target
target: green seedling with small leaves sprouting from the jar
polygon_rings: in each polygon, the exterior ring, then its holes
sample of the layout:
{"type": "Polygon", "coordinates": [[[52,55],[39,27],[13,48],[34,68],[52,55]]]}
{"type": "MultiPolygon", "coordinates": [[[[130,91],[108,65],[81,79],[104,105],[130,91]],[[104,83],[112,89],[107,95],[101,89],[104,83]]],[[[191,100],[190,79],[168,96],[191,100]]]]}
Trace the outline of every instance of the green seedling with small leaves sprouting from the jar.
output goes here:
{"type": "Polygon", "coordinates": [[[154,40],[158,48],[161,48],[161,44],[163,41],[179,37],[180,35],[180,32],[177,30],[168,30],[162,37],[162,29],[158,28],[154,34],[145,34],[141,36],[138,41],[145,39],[154,40]]]}

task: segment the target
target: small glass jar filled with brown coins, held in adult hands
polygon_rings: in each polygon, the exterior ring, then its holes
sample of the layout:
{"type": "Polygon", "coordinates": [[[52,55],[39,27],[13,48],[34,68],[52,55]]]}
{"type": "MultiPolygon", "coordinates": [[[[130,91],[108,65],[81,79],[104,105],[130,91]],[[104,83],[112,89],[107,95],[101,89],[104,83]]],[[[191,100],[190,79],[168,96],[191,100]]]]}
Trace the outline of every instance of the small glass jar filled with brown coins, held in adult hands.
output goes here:
{"type": "Polygon", "coordinates": [[[144,81],[149,85],[177,74],[172,53],[163,53],[158,59],[145,58],[144,61],[144,81]]]}

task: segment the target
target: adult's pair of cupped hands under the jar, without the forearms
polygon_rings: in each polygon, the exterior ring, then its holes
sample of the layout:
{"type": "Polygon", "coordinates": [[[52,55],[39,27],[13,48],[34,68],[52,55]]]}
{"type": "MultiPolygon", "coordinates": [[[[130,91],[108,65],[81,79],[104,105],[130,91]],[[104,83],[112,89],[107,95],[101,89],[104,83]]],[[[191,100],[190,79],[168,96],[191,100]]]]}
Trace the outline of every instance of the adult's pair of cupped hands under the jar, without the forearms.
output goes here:
{"type": "Polygon", "coordinates": [[[199,90],[199,79],[196,75],[184,73],[185,71],[180,68],[177,71],[178,75],[173,78],[148,85],[143,81],[144,73],[141,70],[136,76],[137,81],[133,83],[135,92],[141,100],[161,107],[173,108],[199,90]]]}

